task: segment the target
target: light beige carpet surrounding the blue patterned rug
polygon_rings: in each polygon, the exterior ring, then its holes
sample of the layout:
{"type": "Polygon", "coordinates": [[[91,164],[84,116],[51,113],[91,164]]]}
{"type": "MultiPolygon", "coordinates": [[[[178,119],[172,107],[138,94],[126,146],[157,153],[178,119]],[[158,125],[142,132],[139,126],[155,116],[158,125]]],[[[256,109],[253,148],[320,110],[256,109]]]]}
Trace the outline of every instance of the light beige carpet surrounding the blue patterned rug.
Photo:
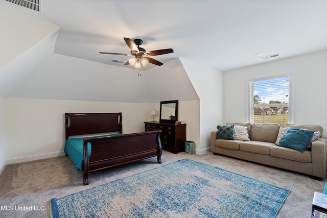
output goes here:
{"type": "Polygon", "coordinates": [[[227,171],[258,179],[291,190],[282,208],[281,217],[311,217],[315,191],[322,192],[326,178],[311,179],[290,171],[256,164],[222,155],[172,154],[164,151],[162,164],[156,158],[89,174],[89,185],[83,185],[83,174],[77,173],[69,157],[56,157],[7,165],[0,176],[1,217],[50,217],[50,200],[121,179],[164,164],[189,158],[227,171]],[[7,210],[6,210],[7,209],[7,210]],[[31,209],[31,210],[30,210],[31,209]]]}

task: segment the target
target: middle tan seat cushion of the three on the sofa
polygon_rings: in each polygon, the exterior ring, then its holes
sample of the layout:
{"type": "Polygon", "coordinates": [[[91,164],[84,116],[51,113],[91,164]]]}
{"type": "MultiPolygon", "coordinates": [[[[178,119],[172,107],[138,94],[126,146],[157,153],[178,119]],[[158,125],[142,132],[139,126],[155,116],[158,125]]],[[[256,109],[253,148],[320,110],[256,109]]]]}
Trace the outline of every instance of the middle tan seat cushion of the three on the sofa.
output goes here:
{"type": "Polygon", "coordinates": [[[240,142],[240,151],[270,155],[270,148],[275,146],[275,143],[263,141],[242,141],[240,142]]]}

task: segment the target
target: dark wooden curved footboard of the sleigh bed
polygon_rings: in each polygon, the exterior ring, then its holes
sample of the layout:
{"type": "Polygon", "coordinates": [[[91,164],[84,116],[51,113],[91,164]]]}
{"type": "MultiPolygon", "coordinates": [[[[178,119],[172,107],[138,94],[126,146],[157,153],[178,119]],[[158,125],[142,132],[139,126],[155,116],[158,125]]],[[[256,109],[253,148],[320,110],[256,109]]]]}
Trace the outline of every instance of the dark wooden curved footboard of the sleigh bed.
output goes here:
{"type": "Polygon", "coordinates": [[[83,140],[83,184],[88,184],[88,173],[120,166],[138,160],[157,157],[161,162],[160,130],[123,135],[114,135],[83,140]],[[91,158],[88,159],[87,143],[91,143],[91,158]]]}

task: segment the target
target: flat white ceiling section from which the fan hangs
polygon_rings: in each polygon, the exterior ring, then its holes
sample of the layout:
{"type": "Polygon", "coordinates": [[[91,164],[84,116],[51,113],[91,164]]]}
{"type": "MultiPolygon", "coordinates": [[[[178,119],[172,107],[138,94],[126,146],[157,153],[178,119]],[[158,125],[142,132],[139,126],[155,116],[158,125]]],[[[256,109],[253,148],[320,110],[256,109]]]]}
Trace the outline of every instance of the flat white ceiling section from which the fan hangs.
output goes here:
{"type": "Polygon", "coordinates": [[[40,5],[36,12],[1,0],[3,10],[60,27],[55,53],[105,64],[128,59],[99,54],[129,53],[123,37],[143,39],[147,51],[175,51],[159,60],[181,57],[219,70],[262,63],[257,53],[286,58],[327,49],[325,0],[40,0],[40,5]]]}

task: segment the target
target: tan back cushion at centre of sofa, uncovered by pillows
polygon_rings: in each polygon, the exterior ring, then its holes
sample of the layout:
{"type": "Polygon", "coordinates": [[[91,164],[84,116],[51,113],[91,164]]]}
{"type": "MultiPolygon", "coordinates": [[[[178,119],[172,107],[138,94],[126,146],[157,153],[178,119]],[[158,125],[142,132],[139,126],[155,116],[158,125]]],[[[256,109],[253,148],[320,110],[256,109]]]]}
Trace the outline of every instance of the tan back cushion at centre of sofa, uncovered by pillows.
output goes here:
{"type": "Polygon", "coordinates": [[[252,124],[250,139],[275,143],[279,131],[278,124],[252,124]]]}

